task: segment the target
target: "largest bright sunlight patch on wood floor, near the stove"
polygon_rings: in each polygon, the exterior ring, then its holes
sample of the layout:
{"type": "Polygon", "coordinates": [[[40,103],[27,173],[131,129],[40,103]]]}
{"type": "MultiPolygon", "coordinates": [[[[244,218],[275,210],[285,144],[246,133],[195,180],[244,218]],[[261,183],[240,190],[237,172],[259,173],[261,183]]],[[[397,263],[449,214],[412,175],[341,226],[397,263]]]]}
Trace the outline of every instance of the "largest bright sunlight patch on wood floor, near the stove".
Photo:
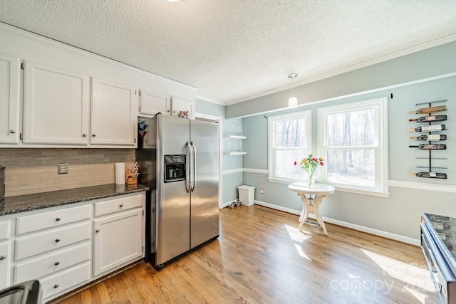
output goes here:
{"type": "Polygon", "coordinates": [[[400,280],[404,285],[403,290],[414,295],[422,303],[424,303],[423,301],[426,295],[420,292],[420,290],[423,292],[435,291],[425,263],[423,265],[418,265],[418,263],[404,263],[365,249],[361,249],[361,251],[377,263],[383,269],[384,273],[400,280]]]}

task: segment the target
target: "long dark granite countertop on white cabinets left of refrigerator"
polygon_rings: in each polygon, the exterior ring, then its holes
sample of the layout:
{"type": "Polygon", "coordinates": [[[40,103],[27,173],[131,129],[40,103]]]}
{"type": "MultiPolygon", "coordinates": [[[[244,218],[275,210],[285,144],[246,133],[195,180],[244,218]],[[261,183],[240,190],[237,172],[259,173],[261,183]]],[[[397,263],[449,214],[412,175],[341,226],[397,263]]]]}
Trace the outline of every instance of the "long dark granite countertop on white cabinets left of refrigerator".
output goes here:
{"type": "Polygon", "coordinates": [[[9,196],[0,202],[0,216],[73,204],[80,201],[90,201],[92,199],[103,199],[148,189],[149,187],[145,187],[142,184],[103,184],[101,186],[9,196]]]}

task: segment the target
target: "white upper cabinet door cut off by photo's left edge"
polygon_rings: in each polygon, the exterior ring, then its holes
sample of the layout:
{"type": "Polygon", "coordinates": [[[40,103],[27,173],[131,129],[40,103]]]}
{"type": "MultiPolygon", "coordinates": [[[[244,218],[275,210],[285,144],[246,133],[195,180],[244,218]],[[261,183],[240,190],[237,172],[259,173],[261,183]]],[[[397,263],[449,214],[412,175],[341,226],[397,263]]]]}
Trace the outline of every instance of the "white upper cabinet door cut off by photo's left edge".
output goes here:
{"type": "Polygon", "coordinates": [[[20,64],[0,53],[0,144],[19,143],[20,64]]]}

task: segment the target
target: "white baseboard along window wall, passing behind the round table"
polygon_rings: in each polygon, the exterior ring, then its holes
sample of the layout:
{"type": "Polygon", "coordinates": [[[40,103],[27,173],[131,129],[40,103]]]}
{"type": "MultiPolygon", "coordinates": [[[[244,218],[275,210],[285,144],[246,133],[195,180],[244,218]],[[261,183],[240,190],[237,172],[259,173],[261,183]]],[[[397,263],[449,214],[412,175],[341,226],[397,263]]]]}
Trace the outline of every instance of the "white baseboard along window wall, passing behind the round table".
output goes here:
{"type": "MultiPolygon", "coordinates": [[[[289,208],[285,208],[285,207],[282,207],[282,206],[277,206],[277,205],[274,205],[274,204],[265,203],[264,201],[255,200],[254,203],[257,204],[257,205],[260,205],[260,206],[265,206],[265,207],[271,208],[271,209],[276,209],[276,210],[288,212],[290,214],[296,214],[296,215],[301,214],[301,211],[299,211],[299,210],[289,209],[289,208]]],[[[326,221],[327,223],[331,223],[331,224],[336,224],[338,226],[343,226],[343,227],[347,227],[347,228],[350,228],[350,229],[366,232],[368,234],[373,234],[375,236],[383,236],[386,239],[392,239],[392,240],[395,240],[395,241],[401,241],[403,243],[410,243],[411,245],[420,246],[420,240],[409,238],[408,236],[401,236],[399,234],[392,234],[392,233],[387,232],[387,231],[382,231],[382,230],[378,230],[378,229],[372,229],[372,228],[369,228],[369,227],[366,227],[366,226],[351,224],[351,223],[348,223],[346,221],[339,221],[337,219],[331,219],[331,218],[324,217],[324,216],[323,216],[323,221],[326,221]]]]}

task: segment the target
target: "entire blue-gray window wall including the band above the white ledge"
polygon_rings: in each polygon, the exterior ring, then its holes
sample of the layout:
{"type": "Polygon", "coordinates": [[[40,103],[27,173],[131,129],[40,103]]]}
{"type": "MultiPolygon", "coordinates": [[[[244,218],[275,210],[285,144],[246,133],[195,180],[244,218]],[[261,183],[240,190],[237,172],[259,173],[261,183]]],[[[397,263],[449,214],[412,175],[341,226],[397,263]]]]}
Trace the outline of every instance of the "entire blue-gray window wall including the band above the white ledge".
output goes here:
{"type": "MultiPolygon", "coordinates": [[[[429,212],[456,217],[456,42],[430,48],[390,61],[353,70],[294,89],[299,108],[288,110],[286,103],[289,90],[229,105],[226,117],[243,117],[244,146],[248,150],[243,157],[242,183],[257,187],[255,199],[260,204],[299,213],[302,206],[299,197],[287,188],[287,184],[268,182],[265,170],[267,162],[267,120],[264,116],[279,115],[294,110],[311,109],[313,112],[313,147],[316,150],[316,109],[328,105],[350,103],[388,97],[388,157],[389,197],[371,196],[337,191],[328,196],[321,207],[323,218],[337,224],[418,243],[420,214],[429,212]],[[393,99],[390,94],[393,93],[393,99]],[[409,172],[417,169],[427,152],[410,149],[415,135],[407,129],[415,127],[408,122],[408,111],[418,107],[415,103],[447,99],[449,120],[445,122],[448,140],[446,151],[437,151],[445,161],[434,165],[448,167],[446,180],[420,179],[409,172]],[[452,138],[455,137],[455,138],[452,138]],[[256,170],[260,170],[256,172],[256,170]],[[264,188],[264,194],[259,189],[264,188]]],[[[331,231],[329,231],[331,233],[331,231]]]]}

